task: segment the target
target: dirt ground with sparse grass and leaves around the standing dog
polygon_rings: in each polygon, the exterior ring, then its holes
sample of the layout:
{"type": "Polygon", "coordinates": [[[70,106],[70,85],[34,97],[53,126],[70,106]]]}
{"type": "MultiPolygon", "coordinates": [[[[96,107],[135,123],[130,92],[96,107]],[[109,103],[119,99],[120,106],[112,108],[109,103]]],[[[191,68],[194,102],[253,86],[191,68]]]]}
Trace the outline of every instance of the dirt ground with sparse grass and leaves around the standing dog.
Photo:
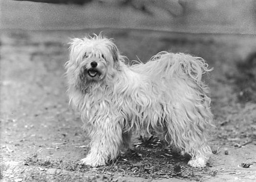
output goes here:
{"type": "Polygon", "coordinates": [[[187,166],[159,138],[135,145],[105,167],[82,166],[89,150],[77,112],[68,106],[63,65],[69,38],[80,31],[1,31],[1,179],[88,182],[256,181],[256,37],[103,30],[131,60],[162,50],[203,57],[214,70],[209,84],[215,128],[205,169],[187,166]]]}

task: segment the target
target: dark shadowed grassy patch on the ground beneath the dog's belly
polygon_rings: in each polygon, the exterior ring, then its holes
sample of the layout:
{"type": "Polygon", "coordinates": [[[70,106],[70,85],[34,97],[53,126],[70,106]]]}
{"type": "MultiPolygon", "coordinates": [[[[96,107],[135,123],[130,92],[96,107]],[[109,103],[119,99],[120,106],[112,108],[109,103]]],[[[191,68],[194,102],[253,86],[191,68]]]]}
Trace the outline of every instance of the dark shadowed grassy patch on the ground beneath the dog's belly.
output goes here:
{"type": "Polygon", "coordinates": [[[137,138],[133,147],[114,161],[109,161],[103,172],[122,173],[144,178],[190,178],[193,168],[189,156],[181,156],[165,140],[158,137],[137,138]]]}

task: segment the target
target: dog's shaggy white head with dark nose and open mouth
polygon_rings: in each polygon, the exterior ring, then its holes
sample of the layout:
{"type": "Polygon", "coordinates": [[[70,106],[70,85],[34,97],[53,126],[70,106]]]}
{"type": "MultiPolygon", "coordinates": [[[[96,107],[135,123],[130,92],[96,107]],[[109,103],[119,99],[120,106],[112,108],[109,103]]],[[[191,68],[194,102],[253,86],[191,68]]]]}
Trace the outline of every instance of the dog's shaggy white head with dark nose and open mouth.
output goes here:
{"type": "Polygon", "coordinates": [[[101,34],[72,39],[69,50],[70,59],[65,66],[67,76],[69,82],[76,82],[73,84],[78,87],[104,81],[120,67],[117,46],[101,34]]]}

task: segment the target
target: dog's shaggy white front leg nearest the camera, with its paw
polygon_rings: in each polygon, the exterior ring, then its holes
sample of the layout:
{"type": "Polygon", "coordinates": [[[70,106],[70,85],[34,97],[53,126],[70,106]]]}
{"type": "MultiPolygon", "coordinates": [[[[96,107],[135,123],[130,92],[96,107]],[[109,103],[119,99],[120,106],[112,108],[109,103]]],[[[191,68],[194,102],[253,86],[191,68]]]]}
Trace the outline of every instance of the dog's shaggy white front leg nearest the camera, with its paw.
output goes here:
{"type": "Polygon", "coordinates": [[[122,127],[118,122],[108,117],[101,123],[91,124],[89,127],[91,150],[83,164],[91,166],[105,165],[108,160],[116,159],[122,148],[122,127]]]}

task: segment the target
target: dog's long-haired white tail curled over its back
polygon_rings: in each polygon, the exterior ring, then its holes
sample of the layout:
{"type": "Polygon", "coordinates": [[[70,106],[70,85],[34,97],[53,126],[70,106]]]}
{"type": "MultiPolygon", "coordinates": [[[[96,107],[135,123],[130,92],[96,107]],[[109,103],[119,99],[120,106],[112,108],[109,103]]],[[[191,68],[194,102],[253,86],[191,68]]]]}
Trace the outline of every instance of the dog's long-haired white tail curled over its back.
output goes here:
{"type": "Polygon", "coordinates": [[[213,68],[209,68],[201,57],[166,51],[159,52],[153,56],[143,67],[144,72],[148,70],[148,73],[154,73],[155,77],[160,75],[169,78],[189,76],[197,83],[201,82],[203,74],[213,70],[213,68]]]}

